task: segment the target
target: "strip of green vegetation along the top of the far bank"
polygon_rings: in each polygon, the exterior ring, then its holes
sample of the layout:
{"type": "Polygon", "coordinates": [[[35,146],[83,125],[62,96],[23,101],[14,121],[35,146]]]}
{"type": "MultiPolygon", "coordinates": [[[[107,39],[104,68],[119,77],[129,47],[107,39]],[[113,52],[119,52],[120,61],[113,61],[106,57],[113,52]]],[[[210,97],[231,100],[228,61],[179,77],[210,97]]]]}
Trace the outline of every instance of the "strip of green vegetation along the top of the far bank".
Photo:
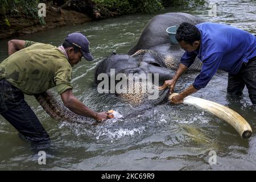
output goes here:
{"type": "MultiPolygon", "coordinates": [[[[38,19],[41,24],[44,24],[43,17],[38,16],[39,2],[47,2],[58,7],[63,7],[67,5],[67,3],[72,3],[72,1],[75,2],[75,0],[0,0],[0,18],[5,20],[7,26],[11,26],[7,19],[7,15],[25,14],[34,19],[38,19]]],[[[123,15],[133,13],[155,13],[159,10],[163,10],[164,7],[167,6],[204,5],[204,3],[206,3],[205,1],[206,0],[83,0],[80,1],[80,3],[84,2],[86,5],[89,3],[92,5],[89,7],[97,11],[104,9],[104,11],[107,10],[109,12],[115,12],[117,15],[123,15]]],[[[88,9],[88,7],[86,7],[86,9],[88,9]]],[[[94,12],[94,10],[91,10],[90,12],[94,12]]]]}

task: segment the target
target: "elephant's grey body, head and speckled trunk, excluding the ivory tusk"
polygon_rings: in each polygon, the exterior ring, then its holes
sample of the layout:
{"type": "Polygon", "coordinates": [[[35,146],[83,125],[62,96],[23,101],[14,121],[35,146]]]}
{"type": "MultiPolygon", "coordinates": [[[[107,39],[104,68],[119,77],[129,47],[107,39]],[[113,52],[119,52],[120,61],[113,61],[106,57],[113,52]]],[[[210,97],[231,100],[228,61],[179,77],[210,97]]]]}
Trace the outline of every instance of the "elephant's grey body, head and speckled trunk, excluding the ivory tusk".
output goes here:
{"type": "MultiPolygon", "coordinates": [[[[114,76],[117,76],[118,73],[123,73],[123,75],[129,75],[129,73],[138,73],[138,75],[141,73],[158,73],[158,84],[163,84],[164,80],[171,79],[179,65],[179,60],[184,50],[177,44],[170,44],[166,28],[179,25],[182,22],[197,24],[203,22],[203,20],[185,13],[167,13],[154,16],[144,28],[138,43],[129,50],[127,55],[113,54],[97,64],[95,82],[97,84],[100,83],[97,78],[101,73],[111,77],[111,69],[115,69],[114,76]]],[[[201,61],[196,59],[191,66],[191,70],[199,71],[200,67],[201,61]]],[[[146,75],[146,80],[147,78],[146,75]]],[[[133,81],[134,92],[120,93],[118,96],[130,102],[141,104],[144,101],[148,101],[147,96],[152,95],[152,93],[142,92],[145,88],[146,91],[149,90],[147,88],[158,90],[158,86],[155,85],[154,81],[147,82],[145,85],[143,82],[134,81],[134,77],[129,79],[133,81]]],[[[116,81],[114,84],[117,84],[116,81]]],[[[167,94],[168,90],[161,91],[157,98],[150,101],[153,104],[159,104],[164,98],[167,98],[167,94]]],[[[53,119],[70,122],[85,121],[92,124],[88,118],[70,111],[50,91],[38,94],[35,98],[53,119]]]]}

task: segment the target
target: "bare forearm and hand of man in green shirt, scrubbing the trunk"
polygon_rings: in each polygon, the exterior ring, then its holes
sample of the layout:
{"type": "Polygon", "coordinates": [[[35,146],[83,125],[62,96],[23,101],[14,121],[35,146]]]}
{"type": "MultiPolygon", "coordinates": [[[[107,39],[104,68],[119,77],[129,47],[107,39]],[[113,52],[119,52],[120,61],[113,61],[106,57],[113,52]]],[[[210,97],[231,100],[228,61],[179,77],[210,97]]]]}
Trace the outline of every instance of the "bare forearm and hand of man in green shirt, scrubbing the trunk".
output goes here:
{"type": "Polygon", "coordinates": [[[65,92],[60,94],[61,99],[69,110],[76,114],[85,115],[86,117],[94,118],[96,121],[103,121],[108,118],[108,113],[97,113],[90,110],[82,102],[80,102],[72,92],[72,89],[65,90],[65,92]]]}

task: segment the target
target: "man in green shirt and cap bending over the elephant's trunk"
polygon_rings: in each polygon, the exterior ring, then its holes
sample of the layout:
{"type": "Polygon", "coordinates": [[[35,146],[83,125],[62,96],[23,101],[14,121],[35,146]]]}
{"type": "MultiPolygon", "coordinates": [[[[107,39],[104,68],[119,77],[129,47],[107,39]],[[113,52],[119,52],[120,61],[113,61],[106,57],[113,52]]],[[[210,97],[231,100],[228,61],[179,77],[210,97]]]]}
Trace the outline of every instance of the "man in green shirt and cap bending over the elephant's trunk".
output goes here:
{"type": "Polygon", "coordinates": [[[69,110],[76,114],[104,121],[109,114],[96,113],[80,102],[72,92],[73,65],[81,57],[92,61],[88,39],[69,34],[62,46],[25,40],[8,42],[9,57],[0,64],[0,114],[26,139],[49,140],[49,135],[24,100],[25,94],[39,94],[57,87],[57,92],[69,110]]]}

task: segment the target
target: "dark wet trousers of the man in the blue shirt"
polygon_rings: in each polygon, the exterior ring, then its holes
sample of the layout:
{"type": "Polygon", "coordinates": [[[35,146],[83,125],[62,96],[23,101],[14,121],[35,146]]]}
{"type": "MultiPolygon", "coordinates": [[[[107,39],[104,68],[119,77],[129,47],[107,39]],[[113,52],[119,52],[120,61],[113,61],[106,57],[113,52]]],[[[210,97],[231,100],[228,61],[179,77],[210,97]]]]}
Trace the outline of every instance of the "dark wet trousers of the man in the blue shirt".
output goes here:
{"type": "Polygon", "coordinates": [[[230,94],[241,96],[245,85],[253,105],[256,105],[256,57],[243,63],[240,72],[236,75],[229,74],[227,91],[230,94]]]}

